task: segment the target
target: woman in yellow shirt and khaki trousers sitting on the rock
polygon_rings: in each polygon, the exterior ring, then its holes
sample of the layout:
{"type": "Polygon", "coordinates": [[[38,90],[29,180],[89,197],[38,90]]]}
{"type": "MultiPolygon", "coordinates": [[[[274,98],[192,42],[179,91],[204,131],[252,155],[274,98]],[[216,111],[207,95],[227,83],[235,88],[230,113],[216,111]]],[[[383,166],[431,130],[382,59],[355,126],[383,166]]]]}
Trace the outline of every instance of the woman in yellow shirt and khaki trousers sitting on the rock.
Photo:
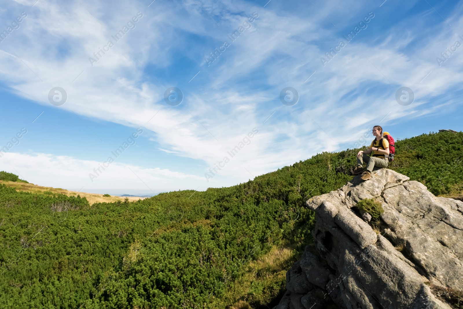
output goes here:
{"type": "Polygon", "coordinates": [[[389,165],[389,142],[387,138],[382,137],[382,128],[380,126],[373,127],[373,135],[375,140],[371,142],[370,147],[366,151],[360,150],[357,153],[357,167],[354,170],[354,175],[362,174],[363,180],[369,180],[370,174],[375,166],[388,167],[389,165]],[[373,152],[373,156],[369,156],[373,152]],[[367,163],[367,170],[363,169],[363,162],[367,163]]]}

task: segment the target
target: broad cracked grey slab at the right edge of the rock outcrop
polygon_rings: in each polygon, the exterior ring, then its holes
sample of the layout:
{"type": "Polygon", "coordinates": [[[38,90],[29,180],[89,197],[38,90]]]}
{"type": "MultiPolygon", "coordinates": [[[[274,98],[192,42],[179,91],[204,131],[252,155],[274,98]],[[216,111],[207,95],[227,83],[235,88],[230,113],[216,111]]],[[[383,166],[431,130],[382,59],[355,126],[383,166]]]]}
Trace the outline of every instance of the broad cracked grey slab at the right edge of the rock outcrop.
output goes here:
{"type": "Polygon", "coordinates": [[[456,200],[436,198],[418,181],[389,188],[383,198],[389,238],[405,245],[430,281],[463,290],[463,215],[456,200]]]}

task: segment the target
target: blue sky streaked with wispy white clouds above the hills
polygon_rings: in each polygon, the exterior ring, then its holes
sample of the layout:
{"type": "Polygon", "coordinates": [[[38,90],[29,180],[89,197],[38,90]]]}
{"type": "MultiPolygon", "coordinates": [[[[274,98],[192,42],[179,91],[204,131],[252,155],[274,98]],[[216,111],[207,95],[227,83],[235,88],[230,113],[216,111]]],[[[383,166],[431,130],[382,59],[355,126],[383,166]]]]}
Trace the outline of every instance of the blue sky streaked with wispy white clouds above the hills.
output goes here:
{"type": "Polygon", "coordinates": [[[18,0],[0,16],[0,146],[27,129],[0,170],[38,185],[205,190],[354,148],[378,123],[396,139],[463,126],[461,1],[18,0]],[[401,87],[413,103],[396,101],[401,87]]]}

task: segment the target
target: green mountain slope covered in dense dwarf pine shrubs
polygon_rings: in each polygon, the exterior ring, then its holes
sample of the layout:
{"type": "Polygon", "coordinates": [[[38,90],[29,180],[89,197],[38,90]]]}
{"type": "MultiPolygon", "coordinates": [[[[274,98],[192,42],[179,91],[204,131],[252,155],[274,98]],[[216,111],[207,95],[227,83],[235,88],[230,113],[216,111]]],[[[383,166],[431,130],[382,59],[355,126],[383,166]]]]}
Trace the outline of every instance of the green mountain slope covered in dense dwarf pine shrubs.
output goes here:
{"type": "MultiPolygon", "coordinates": [[[[396,147],[390,168],[434,194],[459,192],[463,133],[396,147]]],[[[224,308],[238,300],[271,307],[285,270],[312,239],[304,202],[350,180],[357,151],[138,202],[89,206],[2,185],[0,308],[224,308]]]]}

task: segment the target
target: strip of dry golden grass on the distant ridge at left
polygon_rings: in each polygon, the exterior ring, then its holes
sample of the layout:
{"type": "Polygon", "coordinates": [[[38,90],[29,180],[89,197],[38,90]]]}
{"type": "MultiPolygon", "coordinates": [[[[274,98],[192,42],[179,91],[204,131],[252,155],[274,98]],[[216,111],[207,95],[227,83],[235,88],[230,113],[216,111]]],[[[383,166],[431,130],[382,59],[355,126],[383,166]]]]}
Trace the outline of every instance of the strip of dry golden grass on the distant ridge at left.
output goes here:
{"type": "MultiPolygon", "coordinates": [[[[94,203],[103,203],[103,202],[116,202],[118,200],[124,201],[125,197],[121,196],[111,196],[111,197],[104,197],[103,194],[98,194],[98,193],[86,193],[86,192],[77,192],[77,191],[69,191],[66,189],[61,189],[61,188],[52,188],[52,187],[42,187],[38,185],[34,185],[33,183],[25,183],[25,182],[19,182],[19,181],[4,181],[0,180],[0,184],[3,184],[7,187],[12,187],[15,188],[16,191],[26,191],[26,192],[31,192],[31,193],[42,193],[44,194],[45,192],[49,193],[60,193],[64,194],[67,196],[77,196],[80,195],[81,197],[85,197],[88,200],[88,203],[90,205],[94,203]]],[[[143,197],[128,197],[129,201],[137,201],[137,200],[143,200],[143,197]]]]}

